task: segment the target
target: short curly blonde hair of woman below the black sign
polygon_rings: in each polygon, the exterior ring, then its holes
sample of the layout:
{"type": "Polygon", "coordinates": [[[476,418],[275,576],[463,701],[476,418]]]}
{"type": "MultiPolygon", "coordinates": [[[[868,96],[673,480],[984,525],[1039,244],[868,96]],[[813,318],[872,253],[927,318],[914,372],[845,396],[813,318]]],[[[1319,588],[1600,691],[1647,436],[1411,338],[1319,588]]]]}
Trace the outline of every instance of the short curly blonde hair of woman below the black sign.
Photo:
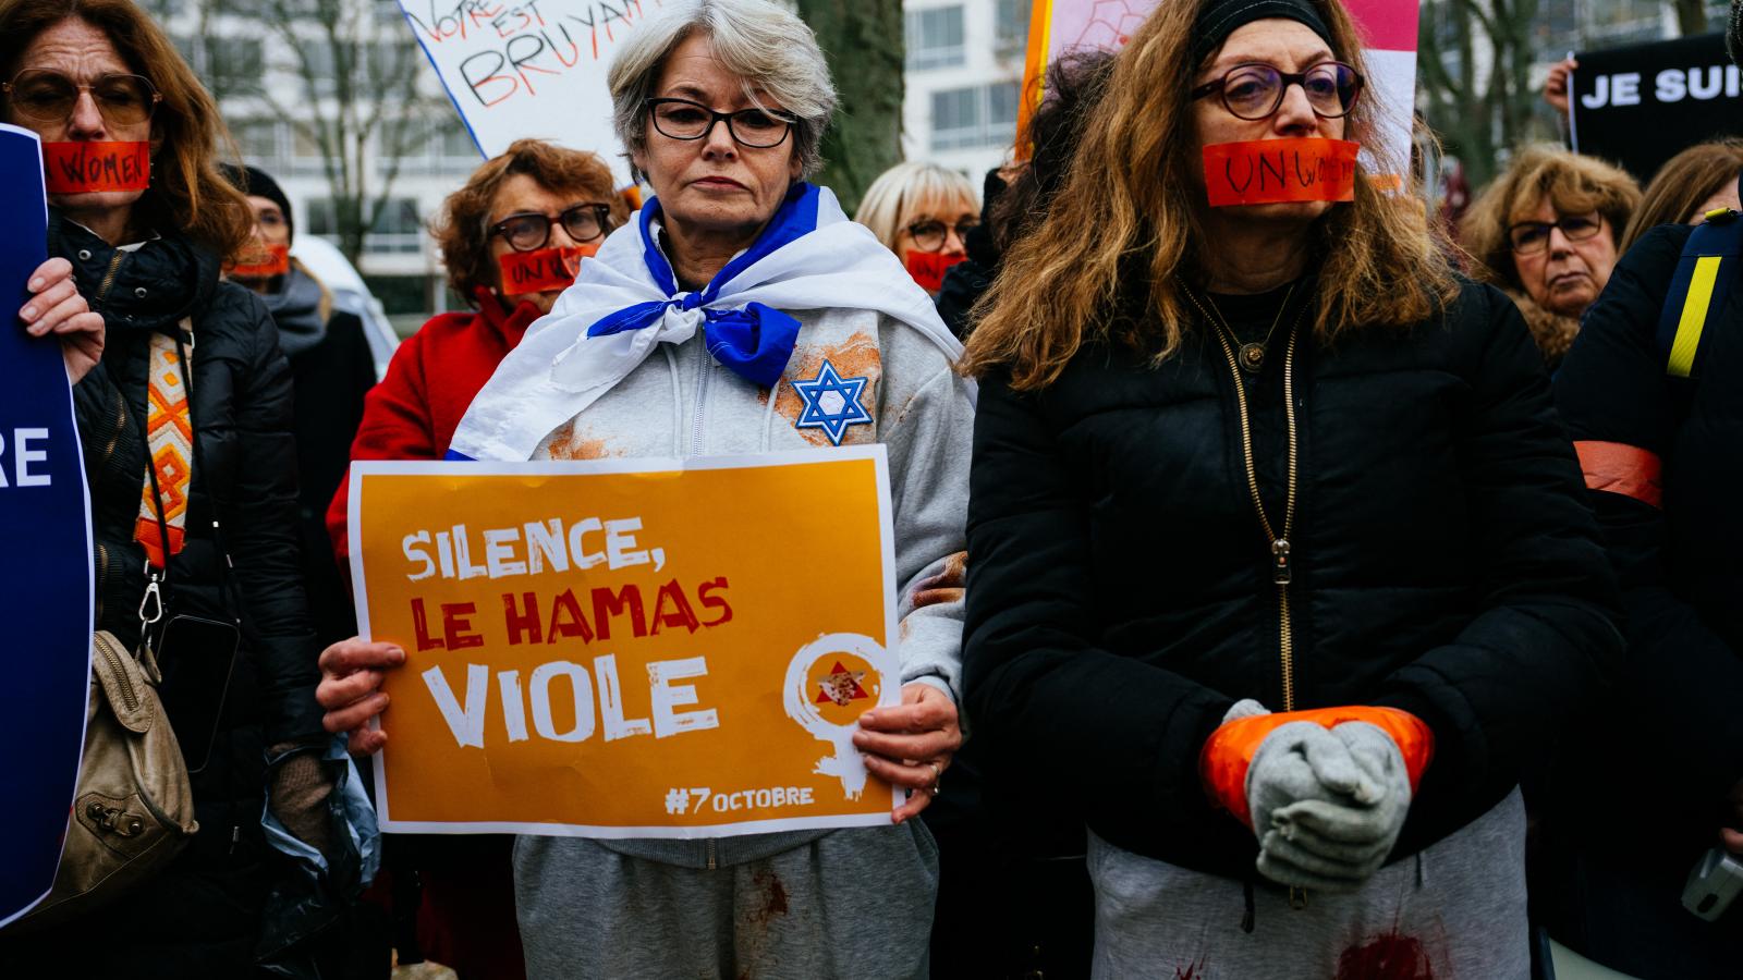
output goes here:
{"type": "Polygon", "coordinates": [[[1473,276],[1509,289],[1525,288],[1513,265],[1508,228],[1529,220],[1544,201],[1558,214],[1604,214],[1611,241],[1621,246],[1633,211],[1640,206],[1640,185],[1621,167],[1597,157],[1572,153],[1553,143],[1525,146],[1459,221],[1459,244],[1480,263],[1471,270],[1473,276]]]}

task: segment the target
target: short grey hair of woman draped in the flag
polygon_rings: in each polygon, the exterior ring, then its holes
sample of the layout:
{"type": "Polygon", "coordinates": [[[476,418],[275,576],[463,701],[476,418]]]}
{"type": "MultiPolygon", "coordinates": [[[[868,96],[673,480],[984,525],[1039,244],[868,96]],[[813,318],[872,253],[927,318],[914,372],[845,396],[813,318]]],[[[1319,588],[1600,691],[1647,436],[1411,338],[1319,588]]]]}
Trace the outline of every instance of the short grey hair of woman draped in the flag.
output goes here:
{"type": "MultiPolygon", "coordinates": [[[[638,28],[612,59],[612,122],[631,153],[647,152],[648,112],[666,58],[692,31],[713,42],[718,58],[744,78],[753,105],[758,96],[779,103],[793,124],[793,155],[802,176],[823,166],[823,131],[835,113],[835,85],[816,35],[798,14],[769,0],[692,0],[638,28]]],[[[641,176],[641,174],[638,174],[641,176]]]]}

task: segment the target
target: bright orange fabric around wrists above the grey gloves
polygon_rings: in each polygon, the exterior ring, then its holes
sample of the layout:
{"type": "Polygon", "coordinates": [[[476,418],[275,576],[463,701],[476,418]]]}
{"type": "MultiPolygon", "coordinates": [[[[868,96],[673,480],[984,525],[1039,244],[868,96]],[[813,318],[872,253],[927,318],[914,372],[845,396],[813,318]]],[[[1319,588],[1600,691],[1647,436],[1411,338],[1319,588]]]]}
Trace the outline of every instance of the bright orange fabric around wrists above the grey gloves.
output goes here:
{"type": "Polygon", "coordinates": [[[1379,727],[1393,738],[1398,752],[1405,757],[1412,793],[1422,781],[1422,771],[1434,759],[1434,732],[1422,718],[1398,708],[1353,704],[1236,718],[1204,739],[1204,752],[1199,753],[1199,776],[1204,778],[1204,792],[1210,793],[1210,799],[1246,827],[1253,827],[1253,814],[1246,807],[1246,769],[1253,764],[1258,743],[1290,722],[1314,722],[1326,729],[1344,722],[1368,722],[1379,727]]]}

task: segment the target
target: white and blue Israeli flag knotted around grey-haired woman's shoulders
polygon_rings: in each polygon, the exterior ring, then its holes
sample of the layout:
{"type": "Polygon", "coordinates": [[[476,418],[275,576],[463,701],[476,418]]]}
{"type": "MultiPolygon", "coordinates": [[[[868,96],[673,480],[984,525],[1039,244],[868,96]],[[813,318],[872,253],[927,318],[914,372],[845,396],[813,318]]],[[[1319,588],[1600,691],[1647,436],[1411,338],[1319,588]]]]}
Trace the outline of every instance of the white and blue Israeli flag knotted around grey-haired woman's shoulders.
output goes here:
{"type": "Polygon", "coordinates": [[[708,352],[762,387],[786,370],[800,323],[784,310],[863,309],[962,344],[896,256],[842,213],[826,187],[795,183],[762,235],[708,286],[678,289],[655,244],[659,199],[580,263],[575,284],[533,323],[453,434],[448,459],[532,459],[539,443],[629,377],[659,344],[704,331],[708,352]]]}

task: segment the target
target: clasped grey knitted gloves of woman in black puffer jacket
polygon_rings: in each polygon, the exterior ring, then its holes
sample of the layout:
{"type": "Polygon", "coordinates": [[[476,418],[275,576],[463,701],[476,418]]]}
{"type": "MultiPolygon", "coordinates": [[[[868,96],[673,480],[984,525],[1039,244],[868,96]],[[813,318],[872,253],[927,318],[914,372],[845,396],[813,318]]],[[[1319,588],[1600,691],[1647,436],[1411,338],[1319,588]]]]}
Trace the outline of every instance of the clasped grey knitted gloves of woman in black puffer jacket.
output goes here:
{"type": "MultiPolygon", "coordinates": [[[[1379,727],[1344,722],[1319,731],[1346,750],[1342,759],[1330,746],[1304,753],[1323,792],[1272,806],[1264,823],[1253,802],[1258,872],[1281,884],[1353,891],[1386,863],[1398,842],[1410,811],[1410,776],[1398,745],[1379,727]]],[[[1260,745],[1260,755],[1269,741],[1260,745]]]]}

